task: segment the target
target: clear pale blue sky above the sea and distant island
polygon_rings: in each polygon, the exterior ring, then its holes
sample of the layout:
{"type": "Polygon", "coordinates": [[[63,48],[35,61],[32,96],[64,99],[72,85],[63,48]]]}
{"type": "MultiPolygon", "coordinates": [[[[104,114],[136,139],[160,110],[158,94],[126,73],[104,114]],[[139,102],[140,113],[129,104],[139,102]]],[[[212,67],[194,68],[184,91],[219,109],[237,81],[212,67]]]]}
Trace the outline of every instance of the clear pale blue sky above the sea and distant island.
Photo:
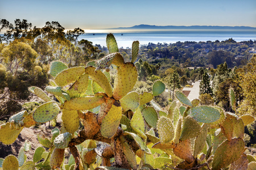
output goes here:
{"type": "Polygon", "coordinates": [[[0,0],[0,19],[27,19],[65,29],[150,25],[256,27],[255,0],[0,0]]]}

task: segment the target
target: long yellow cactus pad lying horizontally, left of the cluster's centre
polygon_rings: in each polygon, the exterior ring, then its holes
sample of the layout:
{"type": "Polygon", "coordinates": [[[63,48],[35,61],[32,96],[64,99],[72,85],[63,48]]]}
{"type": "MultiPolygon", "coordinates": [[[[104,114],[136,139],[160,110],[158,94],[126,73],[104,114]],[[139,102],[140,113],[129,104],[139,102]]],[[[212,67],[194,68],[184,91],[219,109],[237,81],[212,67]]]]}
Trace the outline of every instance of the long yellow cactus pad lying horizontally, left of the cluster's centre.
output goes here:
{"type": "Polygon", "coordinates": [[[101,105],[104,101],[105,100],[102,96],[76,97],[69,101],[65,101],[63,108],[69,111],[89,110],[101,105]]]}

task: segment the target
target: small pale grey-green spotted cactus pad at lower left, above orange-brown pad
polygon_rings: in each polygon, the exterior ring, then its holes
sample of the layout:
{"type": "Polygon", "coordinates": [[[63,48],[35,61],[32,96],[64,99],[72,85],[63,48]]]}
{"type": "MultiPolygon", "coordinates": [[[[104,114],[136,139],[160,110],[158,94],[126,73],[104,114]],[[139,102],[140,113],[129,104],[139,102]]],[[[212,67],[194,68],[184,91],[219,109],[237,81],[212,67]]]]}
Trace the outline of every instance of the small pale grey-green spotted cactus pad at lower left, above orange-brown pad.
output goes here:
{"type": "Polygon", "coordinates": [[[69,132],[60,134],[57,136],[57,138],[55,138],[54,145],[56,148],[64,149],[68,147],[68,143],[71,141],[71,139],[72,139],[72,134],[69,132]]]}

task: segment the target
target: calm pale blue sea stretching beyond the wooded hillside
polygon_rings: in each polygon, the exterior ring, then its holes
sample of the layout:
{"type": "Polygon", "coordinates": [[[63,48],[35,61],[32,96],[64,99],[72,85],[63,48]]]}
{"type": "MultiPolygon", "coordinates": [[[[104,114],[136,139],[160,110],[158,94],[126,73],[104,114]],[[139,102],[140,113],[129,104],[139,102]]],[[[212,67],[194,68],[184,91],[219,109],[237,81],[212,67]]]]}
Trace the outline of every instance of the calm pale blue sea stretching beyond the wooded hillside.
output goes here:
{"type": "Polygon", "coordinates": [[[118,30],[118,29],[89,29],[85,30],[85,35],[81,35],[79,40],[86,39],[92,41],[93,45],[100,44],[106,46],[107,33],[113,33],[117,40],[118,47],[131,47],[133,41],[140,44],[174,43],[177,41],[215,41],[233,38],[235,41],[256,40],[256,30],[118,30]]]}

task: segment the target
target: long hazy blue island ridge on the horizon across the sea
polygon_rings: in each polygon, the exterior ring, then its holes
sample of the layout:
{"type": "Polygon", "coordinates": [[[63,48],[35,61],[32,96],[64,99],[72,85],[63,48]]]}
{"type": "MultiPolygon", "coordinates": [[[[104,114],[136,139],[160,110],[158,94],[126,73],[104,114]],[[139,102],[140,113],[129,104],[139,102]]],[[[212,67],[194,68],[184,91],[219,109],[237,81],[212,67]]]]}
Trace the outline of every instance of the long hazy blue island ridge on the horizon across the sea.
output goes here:
{"type": "Polygon", "coordinates": [[[192,25],[192,26],[174,26],[174,25],[167,25],[167,26],[158,26],[158,25],[134,25],[133,27],[119,27],[119,28],[111,28],[111,29],[255,29],[256,27],[245,27],[245,26],[207,26],[207,25],[192,25]]]}

